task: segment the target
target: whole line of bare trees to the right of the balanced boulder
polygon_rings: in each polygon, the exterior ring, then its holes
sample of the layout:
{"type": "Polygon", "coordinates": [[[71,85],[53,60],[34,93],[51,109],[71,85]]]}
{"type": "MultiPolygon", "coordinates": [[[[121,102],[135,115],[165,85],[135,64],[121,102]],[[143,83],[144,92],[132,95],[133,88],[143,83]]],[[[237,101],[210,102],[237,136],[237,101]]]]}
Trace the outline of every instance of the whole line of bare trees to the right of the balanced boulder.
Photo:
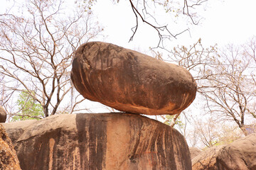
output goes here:
{"type": "Polygon", "coordinates": [[[193,104],[202,111],[205,120],[193,118],[193,111],[186,109],[181,114],[182,126],[178,115],[166,116],[164,122],[173,123],[178,118],[176,125],[186,128],[186,121],[190,121],[193,130],[181,132],[183,135],[189,132],[192,140],[197,139],[191,141],[194,145],[200,139],[206,147],[221,141],[232,142],[241,136],[240,133],[256,132],[256,37],[245,44],[227,45],[221,49],[217,45],[203,47],[198,40],[190,47],[178,46],[166,51],[169,54],[166,59],[159,51],[154,52],[155,57],[179,64],[193,74],[198,84],[197,100],[193,104]]]}

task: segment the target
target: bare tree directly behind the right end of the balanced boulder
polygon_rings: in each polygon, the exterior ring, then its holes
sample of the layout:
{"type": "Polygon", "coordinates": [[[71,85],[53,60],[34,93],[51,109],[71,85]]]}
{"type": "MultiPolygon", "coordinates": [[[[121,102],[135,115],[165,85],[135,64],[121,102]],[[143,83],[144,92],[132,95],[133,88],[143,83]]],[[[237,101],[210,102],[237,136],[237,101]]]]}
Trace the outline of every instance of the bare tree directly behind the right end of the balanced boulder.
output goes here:
{"type": "MultiPolygon", "coordinates": [[[[154,56],[159,60],[178,64],[179,66],[188,69],[198,83],[198,91],[209,87],[209,85],[206,86],[206,84],[199,82],[204,81],[213,75],[211,69],[216,65],[216,45],[203,47],[201,44],[201,39],[199,39],[196,43],[189,47],[182,45],[174,47],[173,49],[164,49],[164,52],[167,54],[166,58],[164,58],[162,53],[159,51],[152,50],[152,52],[154,52],[154,56]]],[[[183,113],[186,114],[186,111],[183,111],[183,113]]],[[[172,117],[170,124],[172,127],[174,127],[176,124],[176,120],[179,118],[180,114],[172,117]]],[[[168,118],[164,118],[164,120],[169,121],[168,118]]]]}

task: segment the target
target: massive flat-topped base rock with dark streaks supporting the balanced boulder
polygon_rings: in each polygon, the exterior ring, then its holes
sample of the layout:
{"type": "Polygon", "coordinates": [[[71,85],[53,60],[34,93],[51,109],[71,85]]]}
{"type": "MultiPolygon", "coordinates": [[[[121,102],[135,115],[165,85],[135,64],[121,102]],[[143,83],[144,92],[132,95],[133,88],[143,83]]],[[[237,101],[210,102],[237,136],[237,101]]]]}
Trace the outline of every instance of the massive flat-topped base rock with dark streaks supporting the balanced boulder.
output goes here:
{"type": "Polygon", "coordinates": [[[127,113],[52,115],[28,126],[15,149],[23,170],[191,169],[177,130],[127,113]]]}

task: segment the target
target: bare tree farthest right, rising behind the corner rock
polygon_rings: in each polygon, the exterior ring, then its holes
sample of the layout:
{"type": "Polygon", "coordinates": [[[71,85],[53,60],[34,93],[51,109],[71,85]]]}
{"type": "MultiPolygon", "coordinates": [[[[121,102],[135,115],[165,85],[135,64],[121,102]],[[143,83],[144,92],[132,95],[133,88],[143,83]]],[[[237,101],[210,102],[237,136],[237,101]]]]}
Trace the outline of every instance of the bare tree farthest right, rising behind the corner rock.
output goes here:
{"type": "Polygon", "coordinates": [[[230,45],[226,49],[220,53],[218,65],[212,69],[213,75],[203,81],[211,87],[201,89],[201,94],[206,98],[209,113],[221,120],[235,121],[247,135],[246,115],[256,118],[250,106],[256,99],[252,94],[256,86],[250,83],[251,60],[241,47],[230,45]]]}

